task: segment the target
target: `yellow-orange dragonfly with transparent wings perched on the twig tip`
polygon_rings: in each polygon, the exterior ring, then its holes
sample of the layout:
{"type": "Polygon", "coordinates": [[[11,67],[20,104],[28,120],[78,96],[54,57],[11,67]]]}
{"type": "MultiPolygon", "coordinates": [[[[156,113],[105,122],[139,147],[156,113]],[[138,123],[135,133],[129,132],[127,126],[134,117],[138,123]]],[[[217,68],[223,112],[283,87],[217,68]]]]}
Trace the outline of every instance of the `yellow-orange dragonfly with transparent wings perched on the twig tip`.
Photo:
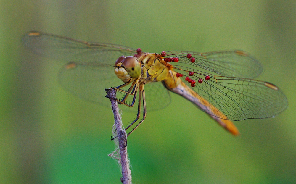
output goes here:
{"type": "MultiPolygon", "coordinates": [[[[65,61],[59,82],[74,95],[108,105],[104,88],[110,88],[118,91],[118,104],[138,104],[135,120],[125,128],[133,127],[128,135],[145,120],[147,110],[170,104],[169,92],[191,101],[233,135],[239,131],[232,121],[274,117],[288,105],[279,87],[252,79],[263,67],[242,50],[157,54],[38,31],[26,33],[22,42],[33,53],[65,61]]],[[[175,114],[176,109],[170,111],[175,114]]]]}

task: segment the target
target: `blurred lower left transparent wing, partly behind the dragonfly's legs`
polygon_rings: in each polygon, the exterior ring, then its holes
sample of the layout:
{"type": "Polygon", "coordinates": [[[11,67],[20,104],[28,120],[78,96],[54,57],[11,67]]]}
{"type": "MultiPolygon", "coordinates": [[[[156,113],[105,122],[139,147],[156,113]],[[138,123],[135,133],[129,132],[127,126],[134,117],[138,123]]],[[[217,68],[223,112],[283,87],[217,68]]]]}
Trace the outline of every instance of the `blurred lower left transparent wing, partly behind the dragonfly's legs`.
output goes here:
{"type": "MultiPolygon", "coordinates": [[[[66,64],[59,73],[59,82],[68,91],[87,101],[110,106],[109,99],[105,98],[105,88],[116,87],[123,82],[119,80],[114,67],[101,66],[90,62],[66,64]]],[[[129,85],[124,88],[127,91],[129,85]]],[[[161,82],[148,83],[144,86],[146,93],[147,110],[157,110],[167,106],[171,99],[168,90],[161,82]]],[[[117,97],[122,99],[125,93],[117,92],[117,97]]],[[[138,94],[137,94],[138,95],[138,94]]],[[[127,103],[131,104],[133,96],[129,96],[127,103]]],[[[136,104],[138,97],[136,98],[136,104]]],[[[124,105],[120,109],[137,111],[137,108],[130,108],[124,105]]]]}

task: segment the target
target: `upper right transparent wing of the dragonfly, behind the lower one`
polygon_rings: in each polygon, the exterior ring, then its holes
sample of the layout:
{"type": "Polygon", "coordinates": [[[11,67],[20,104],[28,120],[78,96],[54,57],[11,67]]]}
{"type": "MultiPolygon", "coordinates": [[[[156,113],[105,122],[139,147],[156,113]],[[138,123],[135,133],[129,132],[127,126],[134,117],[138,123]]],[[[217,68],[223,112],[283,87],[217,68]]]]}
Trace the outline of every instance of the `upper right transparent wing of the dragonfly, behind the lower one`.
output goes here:
{"type": "Polygon", "coordinates": [[[256,59],[240,50],[205,53],[168,51],[166,54],[169,57],[179,58],[178,64],[183,67],[191,67],[196,70],[202,68],[222,76],[254,78],[263,70],[256,59]],[[188,58],[187,54],[191,54],[191,58],[188,58]],[[195,62],[190,61],[192,58],[195,58],[195,62]]]}

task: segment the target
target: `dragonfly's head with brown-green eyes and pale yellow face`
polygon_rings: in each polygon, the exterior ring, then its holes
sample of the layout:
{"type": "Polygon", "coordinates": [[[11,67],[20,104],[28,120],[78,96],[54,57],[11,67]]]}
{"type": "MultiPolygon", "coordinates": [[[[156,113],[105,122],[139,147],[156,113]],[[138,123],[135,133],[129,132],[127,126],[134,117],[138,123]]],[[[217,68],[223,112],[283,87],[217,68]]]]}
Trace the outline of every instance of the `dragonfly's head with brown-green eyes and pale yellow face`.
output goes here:
{"type": "Polygon", "coordinates": [[[141,64],[133,56],[120,56],[115,61],[115,74],[127,83],[131,78],[138,78],[141,75],[141,64]]]}

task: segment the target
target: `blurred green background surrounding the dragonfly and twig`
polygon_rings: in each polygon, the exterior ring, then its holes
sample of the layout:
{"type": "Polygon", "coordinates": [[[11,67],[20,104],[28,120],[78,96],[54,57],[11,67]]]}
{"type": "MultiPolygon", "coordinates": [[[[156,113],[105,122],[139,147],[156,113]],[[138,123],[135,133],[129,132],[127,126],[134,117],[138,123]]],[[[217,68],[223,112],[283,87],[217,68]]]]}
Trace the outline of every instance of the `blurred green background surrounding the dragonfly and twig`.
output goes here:
{"type": "MultiPolygon", "coordinates": [[[[250,52],[264,66],[257,79],[278,85],[288,108],[234,122],[234,137],[171,94],[128,137],[133,183],[296,183],[295,0],[0,4],[0,183],[120,183],[107,156],[111,108],[67,93],[57,80],[63,64],[22,46],[30,30],[158,53],[250,52]]],[[[125,122],[134,117],[123,112],[125,122]]]]}

